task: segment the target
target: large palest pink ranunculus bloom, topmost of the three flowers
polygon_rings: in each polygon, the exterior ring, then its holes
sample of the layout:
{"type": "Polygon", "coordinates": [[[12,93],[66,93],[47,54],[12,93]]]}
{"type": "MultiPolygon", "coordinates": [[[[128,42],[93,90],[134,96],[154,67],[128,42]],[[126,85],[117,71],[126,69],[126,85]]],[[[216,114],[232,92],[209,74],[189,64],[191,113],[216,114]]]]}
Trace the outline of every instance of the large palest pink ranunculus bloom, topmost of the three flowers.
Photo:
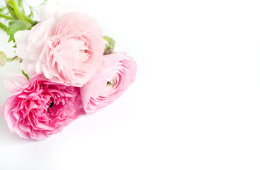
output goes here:
{"type": "Polygon", "coordinates": [[[102,30],[87,13],[47,4],[40,23],[15,34],[16,54],[29,77],[43,74],[51,81],[83,86],[103,57],[102,30]]]}

